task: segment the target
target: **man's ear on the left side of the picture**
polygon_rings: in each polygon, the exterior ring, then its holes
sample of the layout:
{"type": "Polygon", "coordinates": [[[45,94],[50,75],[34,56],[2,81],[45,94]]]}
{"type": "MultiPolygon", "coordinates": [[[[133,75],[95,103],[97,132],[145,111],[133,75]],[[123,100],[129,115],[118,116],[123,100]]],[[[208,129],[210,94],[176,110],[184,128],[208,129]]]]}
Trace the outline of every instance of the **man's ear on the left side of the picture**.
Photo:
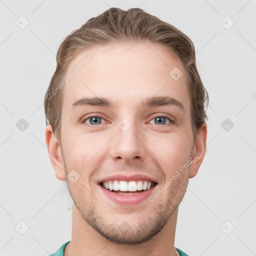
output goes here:
{"type": "Polygon", "coordinates": [[[59,145],[52,131],[52,126],[49,124],[45,128],[45,140],[48,148],[50,162],[55,171],[56,178],[60,180],[66,180],[64,161],[61,154],[61,146],[59,145]]]}

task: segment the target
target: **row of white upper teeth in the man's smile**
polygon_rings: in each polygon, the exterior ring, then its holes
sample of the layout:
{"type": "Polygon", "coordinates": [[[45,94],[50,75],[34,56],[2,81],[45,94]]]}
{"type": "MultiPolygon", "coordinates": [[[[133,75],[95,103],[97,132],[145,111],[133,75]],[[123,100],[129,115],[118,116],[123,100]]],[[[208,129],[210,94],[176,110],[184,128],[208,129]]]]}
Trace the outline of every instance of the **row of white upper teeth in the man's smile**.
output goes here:
{"type": "MultiPolygon", "coordinates": [[[[147,181],[147,180],[132,180],[132,181],[125,181],[125,180],[108,180],[103,181],[102,185],[106,189],[110,191],[140,191],[140,190],[148,190],[153,186],[154,182],[147,181]]],[[[119,193],[119,192],[118,192],[119,193]]],[[[133,193],[120,193],[120,194],[133,194],[133,193]]]]}

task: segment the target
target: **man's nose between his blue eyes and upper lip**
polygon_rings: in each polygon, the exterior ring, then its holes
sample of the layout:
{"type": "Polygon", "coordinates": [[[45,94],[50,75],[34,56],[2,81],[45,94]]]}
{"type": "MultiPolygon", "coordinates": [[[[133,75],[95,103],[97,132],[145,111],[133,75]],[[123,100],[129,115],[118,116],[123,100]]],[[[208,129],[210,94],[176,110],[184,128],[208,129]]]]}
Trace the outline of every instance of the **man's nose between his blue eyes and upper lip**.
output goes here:
{"type": "Polygon", "coordinates": [[[145,159],[145,149],[142,131],[136,127],[135,122],[123,118],[115,129],[109,154],[113,161],[132,164],[145,159]]]}

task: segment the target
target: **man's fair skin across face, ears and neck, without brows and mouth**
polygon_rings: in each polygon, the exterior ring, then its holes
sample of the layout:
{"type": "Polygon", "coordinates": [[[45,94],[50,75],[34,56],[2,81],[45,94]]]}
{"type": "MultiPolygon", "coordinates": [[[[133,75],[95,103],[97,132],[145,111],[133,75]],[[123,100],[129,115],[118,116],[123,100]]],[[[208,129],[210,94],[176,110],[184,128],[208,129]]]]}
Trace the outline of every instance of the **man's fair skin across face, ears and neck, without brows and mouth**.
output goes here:
{"type": "MultiPolygon", "coordinates": [[[[67,73],[94,48],[77,54],[67,73]]],[[[99,53],[61,91],[61,144],[50,125],[45,130],[55,176],[66,180],[74,202],[72,237],[64,256],[174,256],[178,205],[203,160],[206,124],[193,141],[185,70],[162,45],[111,43],[97,49],[99,53]],[[176,81],[169,75],[174,67],[183,72],[176,81]],[[94,96],[115,100],[119,107],[72,107],[76,100],[94,96]],[[149,96],[171,96],[184,111],[176,105],[141,108],[149,96]],[[154,115],[164,113],[175,122],[163,118],[162,124],[155,123],[154,115]],[[102,119],[89,126],[90,119],[83,121],[88,114],[102,119]],[[124,117],[131,124],[125,132],[118,126],[124,117]],[[200,155],[154,202],[120,206],[100,192],[97,181],[115,173],[148,175],[157,180],[158,190],[196,151],[200,155]],[[66,178],[72,169],[80,175],[74,183],[66,178]],[[129,226],[125,231],[118,228],[123,221],[129,226]]]]}

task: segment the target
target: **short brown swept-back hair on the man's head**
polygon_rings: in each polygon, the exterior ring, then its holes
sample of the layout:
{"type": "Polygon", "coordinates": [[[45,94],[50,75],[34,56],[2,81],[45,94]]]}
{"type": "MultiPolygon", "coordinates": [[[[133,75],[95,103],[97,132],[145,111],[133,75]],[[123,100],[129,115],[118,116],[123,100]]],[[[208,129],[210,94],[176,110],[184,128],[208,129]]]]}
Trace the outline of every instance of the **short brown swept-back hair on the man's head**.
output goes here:
{"type": "Polygon", "coordinates": [[[195,63],[195,50],[192,41],[173,25],[150,15],[140,8],[127,11],[109,8],[102,14],[90,18],[80,28],[64,38],[56,56],[56,70],[51,77],[44,97],[46,124],[52,126],[60,142],[60,121],[62,93],[58,85],[66,75],[68,64],[81,50],[105,42],[149,41],[159,43],[179,58],[185,69],[190,98],[190,116],[193,138],[207,119],[204,104],[208,105],[208,93],[204,88],[195,63]]]}

